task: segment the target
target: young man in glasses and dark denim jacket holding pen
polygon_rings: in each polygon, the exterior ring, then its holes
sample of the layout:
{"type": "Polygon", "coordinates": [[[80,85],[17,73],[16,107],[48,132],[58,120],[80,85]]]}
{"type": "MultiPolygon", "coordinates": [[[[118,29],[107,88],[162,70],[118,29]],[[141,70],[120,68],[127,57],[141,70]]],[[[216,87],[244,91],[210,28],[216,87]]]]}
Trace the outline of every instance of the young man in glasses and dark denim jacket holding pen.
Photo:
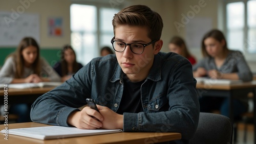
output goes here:
{"type": "Polygon", "coordinates": [[[112,23],[116,54],[93,59],[39,97],[32,105],[32,121],[80,129],[180,132],[177,142],[188,143],[199,118],[196,80],[187,59],[159,52],[161,16],[136,5],[115,14],[112,23]],[[88,106],[78,109],[86,98],[95,100],[99,112],[88,106]]]}

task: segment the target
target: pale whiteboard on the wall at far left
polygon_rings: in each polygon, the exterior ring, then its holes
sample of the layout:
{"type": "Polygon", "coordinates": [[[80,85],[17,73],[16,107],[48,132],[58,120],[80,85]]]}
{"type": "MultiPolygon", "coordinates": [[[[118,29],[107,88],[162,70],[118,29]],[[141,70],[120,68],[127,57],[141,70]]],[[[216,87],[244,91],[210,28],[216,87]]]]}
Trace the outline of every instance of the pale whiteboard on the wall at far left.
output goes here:
{"type": "Polygon", "coordinates": [[[17,46],[24,37],[39,44],[39,30],[39,14],[0,11],[0,46],[17,46]]]}

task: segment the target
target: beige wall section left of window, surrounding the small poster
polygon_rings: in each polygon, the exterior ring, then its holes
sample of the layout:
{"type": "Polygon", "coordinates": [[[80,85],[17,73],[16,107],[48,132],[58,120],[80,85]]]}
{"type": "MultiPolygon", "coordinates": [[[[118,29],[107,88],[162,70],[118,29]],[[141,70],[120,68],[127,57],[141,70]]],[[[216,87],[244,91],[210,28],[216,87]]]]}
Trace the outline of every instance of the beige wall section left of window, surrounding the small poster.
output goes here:
{"type": "Polygon", "coordinates": [[[40,20],[40,46],[42,48],[61,47],[66,43],[70,43],[70,4],[71,1],[62,0],[12,0],[1,1],[0,10],[12,12],[17,11],[19,6],[23,6],[21,2],[28,2],[30,6],[25,9],[25,13],[39,14],[40,20]],[[62,37],[49,37],[47,34],[48,17],[63,17],[64,35],[62,37]]]}

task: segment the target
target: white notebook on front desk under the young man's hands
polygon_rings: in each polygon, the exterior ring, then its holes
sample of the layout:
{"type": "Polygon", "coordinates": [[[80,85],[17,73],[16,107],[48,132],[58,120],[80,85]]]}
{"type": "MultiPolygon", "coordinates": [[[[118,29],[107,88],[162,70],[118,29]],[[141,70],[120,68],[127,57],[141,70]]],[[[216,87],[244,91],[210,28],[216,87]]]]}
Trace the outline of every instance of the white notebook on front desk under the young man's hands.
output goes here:
{"type": "MultiPolygon", "coordinates": [[[[78,129],[76,127],[46,126],[46,127],[9,129],[8,133],[13,135],[36,138],[36,139],[57,139],[57,138],[66,138],[66,137],[117,133],[121,131],[122,131],[121,129],[88,130],[88,129],[78,129]]],[[[3,130],[1,132],[4,133],[3,130]]]]}

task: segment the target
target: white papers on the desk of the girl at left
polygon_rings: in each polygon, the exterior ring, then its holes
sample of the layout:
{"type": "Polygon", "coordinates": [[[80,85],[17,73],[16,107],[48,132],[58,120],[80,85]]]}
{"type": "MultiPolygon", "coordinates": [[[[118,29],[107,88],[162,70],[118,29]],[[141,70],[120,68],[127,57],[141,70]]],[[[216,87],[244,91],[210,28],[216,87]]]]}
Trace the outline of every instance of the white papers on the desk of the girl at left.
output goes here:
{"type": "Polygon", "coordinates": [[[62,82],[38,82],[38,83],[11,83],[7,88],[12,89],[26,89],[26,88],[42,88],[42,87],[56,87],[62,82]]]}

